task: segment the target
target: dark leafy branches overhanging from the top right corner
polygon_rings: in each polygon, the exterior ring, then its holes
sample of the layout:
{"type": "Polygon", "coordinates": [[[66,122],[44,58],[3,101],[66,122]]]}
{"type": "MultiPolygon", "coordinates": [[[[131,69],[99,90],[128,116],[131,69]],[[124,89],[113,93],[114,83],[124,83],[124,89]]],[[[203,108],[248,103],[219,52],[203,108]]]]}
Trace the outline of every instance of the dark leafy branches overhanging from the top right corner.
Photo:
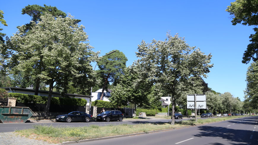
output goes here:
{"type": "MultiPolygon", "coordinates": [[[[232,25],[241,23],[243,25],[258,25],[258,1],[257,0],[236,0],[230,3],[226,11],[232,15],[232,25]]],[[[250,44],[247,46],[243,54],[242,63],[249,63],[251,59],[256,62],[258,60],[258,28],[254,28],[255,34],[249,36],[250,44]]]]}

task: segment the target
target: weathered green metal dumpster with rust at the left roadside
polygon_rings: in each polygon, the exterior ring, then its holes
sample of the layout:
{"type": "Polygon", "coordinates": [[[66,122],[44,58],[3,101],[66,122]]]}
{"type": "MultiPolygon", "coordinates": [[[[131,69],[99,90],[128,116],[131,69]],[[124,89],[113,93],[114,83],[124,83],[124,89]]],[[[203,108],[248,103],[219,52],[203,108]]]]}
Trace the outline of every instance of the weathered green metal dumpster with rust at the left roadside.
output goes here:
{"type": "Polygon", "coordinates": [[[0,123],[25,123],[32,115],[29,107],[0,107],[0,123]]]}

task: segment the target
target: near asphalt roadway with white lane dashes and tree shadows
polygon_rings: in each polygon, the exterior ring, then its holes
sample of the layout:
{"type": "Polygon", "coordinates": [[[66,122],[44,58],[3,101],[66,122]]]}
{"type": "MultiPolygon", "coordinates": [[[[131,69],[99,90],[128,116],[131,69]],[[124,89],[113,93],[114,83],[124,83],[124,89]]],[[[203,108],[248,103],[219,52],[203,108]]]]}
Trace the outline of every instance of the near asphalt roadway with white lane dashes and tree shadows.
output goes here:
{"type": "Polygon", "coordinates": [[[170,131],[91,141],[79,145],[257,145],[257,122],[258,116],[243,117],[170,131]]]}

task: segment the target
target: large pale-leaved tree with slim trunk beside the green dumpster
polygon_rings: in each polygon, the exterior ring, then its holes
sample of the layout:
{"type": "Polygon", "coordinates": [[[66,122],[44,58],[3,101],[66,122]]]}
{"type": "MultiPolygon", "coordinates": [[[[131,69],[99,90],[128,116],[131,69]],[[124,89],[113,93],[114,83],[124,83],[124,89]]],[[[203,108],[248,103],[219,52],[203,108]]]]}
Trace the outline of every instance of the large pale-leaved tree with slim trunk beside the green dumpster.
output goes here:
{"type": "Polygon", "coordinates": [[[74,81],[83,76],[84,80],[81,81],[92,85],[94,80],[90,62],[97,55],[91,51],[89,43],[86,43],[88,36],[83,31],[85,27],[75,24],[71,15],[63,18],[45,14],[40,19],[42,21],[32,22],[34,26],[31,33],[26,35],[26,26],[18,27],[11,41],[16,46],[13,57],[19,62],[14,69],[29,71],[32,77],[39,77],[49,85],[45,113],[47,117],[54,82],[62,83],[64,75],[68,75],[66,81],[74,81]]]}

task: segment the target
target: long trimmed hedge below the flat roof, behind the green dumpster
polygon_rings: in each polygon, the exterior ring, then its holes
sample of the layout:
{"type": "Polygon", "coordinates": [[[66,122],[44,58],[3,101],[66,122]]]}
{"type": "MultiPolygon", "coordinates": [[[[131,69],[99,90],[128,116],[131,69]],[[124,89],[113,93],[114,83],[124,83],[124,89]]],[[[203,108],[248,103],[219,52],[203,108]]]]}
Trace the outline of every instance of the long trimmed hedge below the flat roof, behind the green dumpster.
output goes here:
{"type": "MultiPolygon", "coordinates": [[[[47,104],[47,96],[37,96],[20,93],[9,93],[8,96],[10,98],[17,98],[17,102],[20,103],[47,104]]],[[[85,106],[87,104],[87,100],[80,98],[52,97],[51,104],[85,106]]]]}

